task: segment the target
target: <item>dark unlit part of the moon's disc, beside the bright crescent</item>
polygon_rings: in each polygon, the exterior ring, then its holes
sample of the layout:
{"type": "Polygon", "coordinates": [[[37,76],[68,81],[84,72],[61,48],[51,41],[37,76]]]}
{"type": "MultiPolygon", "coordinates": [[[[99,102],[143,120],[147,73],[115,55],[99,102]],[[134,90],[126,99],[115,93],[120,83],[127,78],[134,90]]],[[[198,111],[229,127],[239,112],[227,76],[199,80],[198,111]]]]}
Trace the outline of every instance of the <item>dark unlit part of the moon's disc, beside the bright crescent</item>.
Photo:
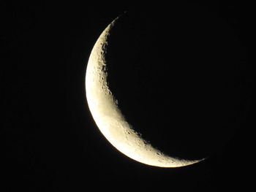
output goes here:
{"type": "Polygon", "coordinates": [[[233,136],[245,50],[216,15],[128,13],[108,42],[110,90],[144,139],[168,155],[200,159],[233,136]]]}

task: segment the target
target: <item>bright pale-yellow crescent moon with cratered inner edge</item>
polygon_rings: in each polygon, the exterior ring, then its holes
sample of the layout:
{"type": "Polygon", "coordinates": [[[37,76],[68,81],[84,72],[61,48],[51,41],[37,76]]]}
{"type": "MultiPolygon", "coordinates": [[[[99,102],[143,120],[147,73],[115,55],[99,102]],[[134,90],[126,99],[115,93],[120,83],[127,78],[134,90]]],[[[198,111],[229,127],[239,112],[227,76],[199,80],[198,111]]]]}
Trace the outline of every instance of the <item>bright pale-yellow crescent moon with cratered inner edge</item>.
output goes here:
{"type": "Polygon", "coordinates": [[[108,85],[108,62],[105,59],[108,37],[116,20],[118,18],[113,20],[97,39],[86,69],[86,98],[99,130],[117,150],[143,164],[179,167],[202,161],[203,159],[190,161],[166,155],[143,139],[122,115],[108,85]]]}

